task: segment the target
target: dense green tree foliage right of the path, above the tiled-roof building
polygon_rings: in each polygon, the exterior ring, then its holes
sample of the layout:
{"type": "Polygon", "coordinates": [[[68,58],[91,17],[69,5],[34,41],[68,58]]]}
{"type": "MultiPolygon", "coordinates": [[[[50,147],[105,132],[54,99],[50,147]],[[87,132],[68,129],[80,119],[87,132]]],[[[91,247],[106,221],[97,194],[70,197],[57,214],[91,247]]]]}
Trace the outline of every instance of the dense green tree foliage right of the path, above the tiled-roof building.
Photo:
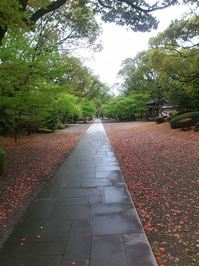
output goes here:
{"type": "Polygon", "coordinates": [[[104,114],[116,118],[139,113],[148,118],[146,102],[152,99],[156,99],[151,107],[157,116],[164,114],[165,103],[176,109],[176,116],[198,111],[198,30],[197,14],[186,14],[152,37],[147,51],[123,60],[118,71],[123,82],[115,84],[120,94],[102,106],[104,114]]]}

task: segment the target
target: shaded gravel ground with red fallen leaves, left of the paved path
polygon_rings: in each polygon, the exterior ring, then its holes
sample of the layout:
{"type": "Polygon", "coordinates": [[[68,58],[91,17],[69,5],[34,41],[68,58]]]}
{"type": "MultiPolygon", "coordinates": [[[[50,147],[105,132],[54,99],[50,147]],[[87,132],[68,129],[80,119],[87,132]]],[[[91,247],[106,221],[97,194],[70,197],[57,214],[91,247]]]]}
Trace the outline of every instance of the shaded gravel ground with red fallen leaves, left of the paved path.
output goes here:
{"type": "Polygon", "coordinates": [[[0,177],[0,245],[91,123],[79,122],[55,133],[25,136],[17,144],[13,138],[0,137],[0,146],[6,152],[6,173],[0,177]]]}

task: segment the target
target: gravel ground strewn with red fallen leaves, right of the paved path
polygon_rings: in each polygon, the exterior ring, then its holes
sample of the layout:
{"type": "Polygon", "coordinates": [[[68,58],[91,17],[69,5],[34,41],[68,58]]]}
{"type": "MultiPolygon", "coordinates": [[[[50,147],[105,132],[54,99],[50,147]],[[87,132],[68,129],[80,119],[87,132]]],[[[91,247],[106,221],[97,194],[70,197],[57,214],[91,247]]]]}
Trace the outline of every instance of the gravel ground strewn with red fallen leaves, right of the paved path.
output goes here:
{"type": "Polygon", "coordinates": [[[104,125],[158,265],[198,265],[198,143],[193,127],[104,125]]]}

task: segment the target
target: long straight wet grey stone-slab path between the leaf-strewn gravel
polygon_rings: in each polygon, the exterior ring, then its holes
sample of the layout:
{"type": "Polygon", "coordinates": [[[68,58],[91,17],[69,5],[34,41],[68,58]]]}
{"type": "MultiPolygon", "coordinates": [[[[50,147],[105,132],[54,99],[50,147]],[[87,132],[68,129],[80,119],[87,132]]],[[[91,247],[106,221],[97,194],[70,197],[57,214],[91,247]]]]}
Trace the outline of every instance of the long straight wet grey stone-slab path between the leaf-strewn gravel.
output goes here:
{"type": "Polygon", "coordinates": [[[0,265],[157,265],[100,120],[11,233],[0,265]]]}

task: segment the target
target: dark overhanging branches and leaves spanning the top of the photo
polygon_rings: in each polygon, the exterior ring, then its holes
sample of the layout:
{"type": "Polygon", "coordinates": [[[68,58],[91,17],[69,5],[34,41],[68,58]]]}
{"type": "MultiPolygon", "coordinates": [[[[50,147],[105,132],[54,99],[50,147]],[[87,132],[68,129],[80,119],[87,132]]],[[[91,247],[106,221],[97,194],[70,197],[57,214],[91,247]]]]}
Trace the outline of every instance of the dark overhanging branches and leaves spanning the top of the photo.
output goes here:
{"type": "MultiPolygon", "coordinates": [[[[184,1],[186,3],[195,2],[193,0],[184,1]]],[[[195,2],[198,5],[198,2],[195,2]]],[[[23,27],[24,24],[30,29],[34,29],[36,22],[45,15],[52,15],[54,11],[66,7],[67,19],[71,18],[71,8],[81,7],[86,13],[88,6],[92,7],[94,14],[100,14],[105,22],[115,22],[118,25],[126,25],[134,31],[150,31],[156,29],[158,21],[151,14],[153,11],[165,9],[168,6],[178,4],[177,0],[161,0],[155,4],[146,1],[129,0],[2,0],[0,9],[0,43],[7,30],[23,27]]],[[[73,11],[75,8],[73,8],[73,11]]],[[[87,13],[86,13],[87,14],[87,13]]],[[[60,23],[63,21],[60,20],[60,23]]]]}

